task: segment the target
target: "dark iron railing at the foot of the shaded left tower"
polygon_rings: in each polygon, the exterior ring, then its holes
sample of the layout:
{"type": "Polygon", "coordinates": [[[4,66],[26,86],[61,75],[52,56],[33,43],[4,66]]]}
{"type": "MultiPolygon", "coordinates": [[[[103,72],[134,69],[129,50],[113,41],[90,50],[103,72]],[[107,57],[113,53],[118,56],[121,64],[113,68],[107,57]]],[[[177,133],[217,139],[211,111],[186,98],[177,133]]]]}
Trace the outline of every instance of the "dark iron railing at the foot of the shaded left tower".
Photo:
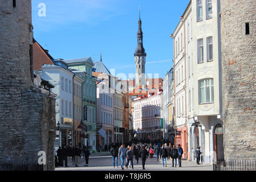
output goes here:
{"type": "Polygon", "coordinates": [[[38,161],[0,162],[0,171],[43,171],[38,161]]]}

